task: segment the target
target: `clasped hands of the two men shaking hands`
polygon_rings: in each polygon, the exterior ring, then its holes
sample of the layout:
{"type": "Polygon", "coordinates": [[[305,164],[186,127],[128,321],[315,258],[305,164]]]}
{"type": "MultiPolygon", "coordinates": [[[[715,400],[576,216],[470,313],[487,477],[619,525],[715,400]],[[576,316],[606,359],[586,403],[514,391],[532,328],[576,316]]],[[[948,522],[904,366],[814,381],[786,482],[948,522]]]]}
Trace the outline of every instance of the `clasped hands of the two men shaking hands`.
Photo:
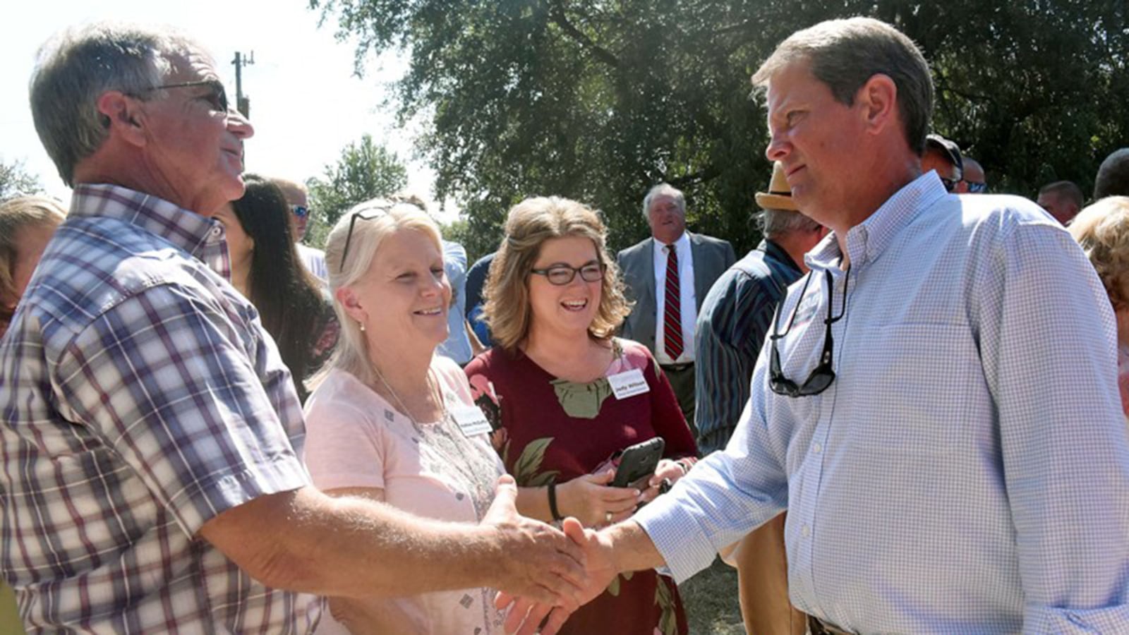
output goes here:
{"type": "Polygon", "coordinates": [[[552,635],[620,572],[663,564],[654,543],[636,523],[597,532],[569,517],[558,530],[518,514],[516,497],[514,479],[502,477],[482,520],[482,527],[497,532],[500,557],[492,567],[490,584],[500,590],[497,607],[509,608],[507,633],[552,635]]]}

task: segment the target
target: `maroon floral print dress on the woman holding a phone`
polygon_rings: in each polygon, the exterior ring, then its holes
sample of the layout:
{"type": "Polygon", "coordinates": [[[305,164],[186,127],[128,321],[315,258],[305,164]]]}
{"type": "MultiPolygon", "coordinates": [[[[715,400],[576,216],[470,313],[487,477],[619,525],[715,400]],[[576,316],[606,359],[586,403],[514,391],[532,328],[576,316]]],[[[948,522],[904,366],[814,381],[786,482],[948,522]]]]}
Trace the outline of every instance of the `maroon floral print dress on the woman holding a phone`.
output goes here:
{"type": "MultiPolygon", "coordinates": [[[[616,451],[663,437],[665,455],[697,454],[693,436],[671,384],[644,346],[613,340],[614,359],[604,377],[560,380],[520,353],[493,348],[465,368],[475,402],[497,428],[495,446],[517,484],[542,487],[590,473],[616,451]],[[607,376],[638,369],[642,394],[618,399],[607,376]]],[[[561,633],[572,635],[685,635],[679,589],[654,571],[616,576],[581,607],[561,633]]]]}

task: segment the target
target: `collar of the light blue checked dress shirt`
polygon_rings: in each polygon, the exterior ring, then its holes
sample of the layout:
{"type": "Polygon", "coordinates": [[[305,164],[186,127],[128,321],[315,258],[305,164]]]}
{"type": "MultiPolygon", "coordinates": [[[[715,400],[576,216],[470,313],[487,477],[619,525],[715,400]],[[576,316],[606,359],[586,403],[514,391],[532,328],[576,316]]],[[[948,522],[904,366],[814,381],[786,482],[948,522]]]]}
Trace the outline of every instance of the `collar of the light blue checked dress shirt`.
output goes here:
{"type": "MultiPolygon", "coordinates": [[[[937,173],[931,171],[898,190],[866,220],[847,232],[847,253],[851,266],[863,266],[881,256],[921,210],[929,208],[945,194],[945,186],[937,173]]],[[[839,241],[831,232],[807,253],[804,261],[814,270],[838,269],[841,258],[839,241]]]]}

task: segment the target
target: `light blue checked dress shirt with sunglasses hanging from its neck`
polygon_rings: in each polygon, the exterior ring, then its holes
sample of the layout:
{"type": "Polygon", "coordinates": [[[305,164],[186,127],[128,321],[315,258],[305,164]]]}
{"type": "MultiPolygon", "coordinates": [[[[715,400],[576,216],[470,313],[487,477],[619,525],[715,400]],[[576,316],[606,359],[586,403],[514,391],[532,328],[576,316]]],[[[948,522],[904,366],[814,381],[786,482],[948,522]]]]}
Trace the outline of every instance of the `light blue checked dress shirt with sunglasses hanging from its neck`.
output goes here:
{"type": "Polygon", "coordinates": [[[807,255],[724,452],[640,522],[679,581],[788,508],[793,603],[856,633],[1129,633],[1129,442],[1109,299],[1031,201],[929,173],[807,255]]]}

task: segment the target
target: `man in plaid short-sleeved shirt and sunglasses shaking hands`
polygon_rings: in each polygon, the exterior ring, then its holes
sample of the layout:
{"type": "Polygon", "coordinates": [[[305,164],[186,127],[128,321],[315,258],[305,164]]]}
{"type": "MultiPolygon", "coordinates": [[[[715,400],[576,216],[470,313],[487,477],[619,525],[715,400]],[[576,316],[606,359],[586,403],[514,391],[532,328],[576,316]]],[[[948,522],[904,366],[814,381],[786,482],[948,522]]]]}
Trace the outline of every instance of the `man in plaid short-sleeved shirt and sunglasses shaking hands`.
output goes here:
{"type": "Polygon", "coordinates": [[[75,194],[0,340],[0,562],[30,632],[308,633],[314,594],[575,601],[578,549],[517,515],[511,481],[479,527],[310,487],[297,397],[210,218],[253,130],[195,43],[64,33],[32,110],[75,194]]]}

